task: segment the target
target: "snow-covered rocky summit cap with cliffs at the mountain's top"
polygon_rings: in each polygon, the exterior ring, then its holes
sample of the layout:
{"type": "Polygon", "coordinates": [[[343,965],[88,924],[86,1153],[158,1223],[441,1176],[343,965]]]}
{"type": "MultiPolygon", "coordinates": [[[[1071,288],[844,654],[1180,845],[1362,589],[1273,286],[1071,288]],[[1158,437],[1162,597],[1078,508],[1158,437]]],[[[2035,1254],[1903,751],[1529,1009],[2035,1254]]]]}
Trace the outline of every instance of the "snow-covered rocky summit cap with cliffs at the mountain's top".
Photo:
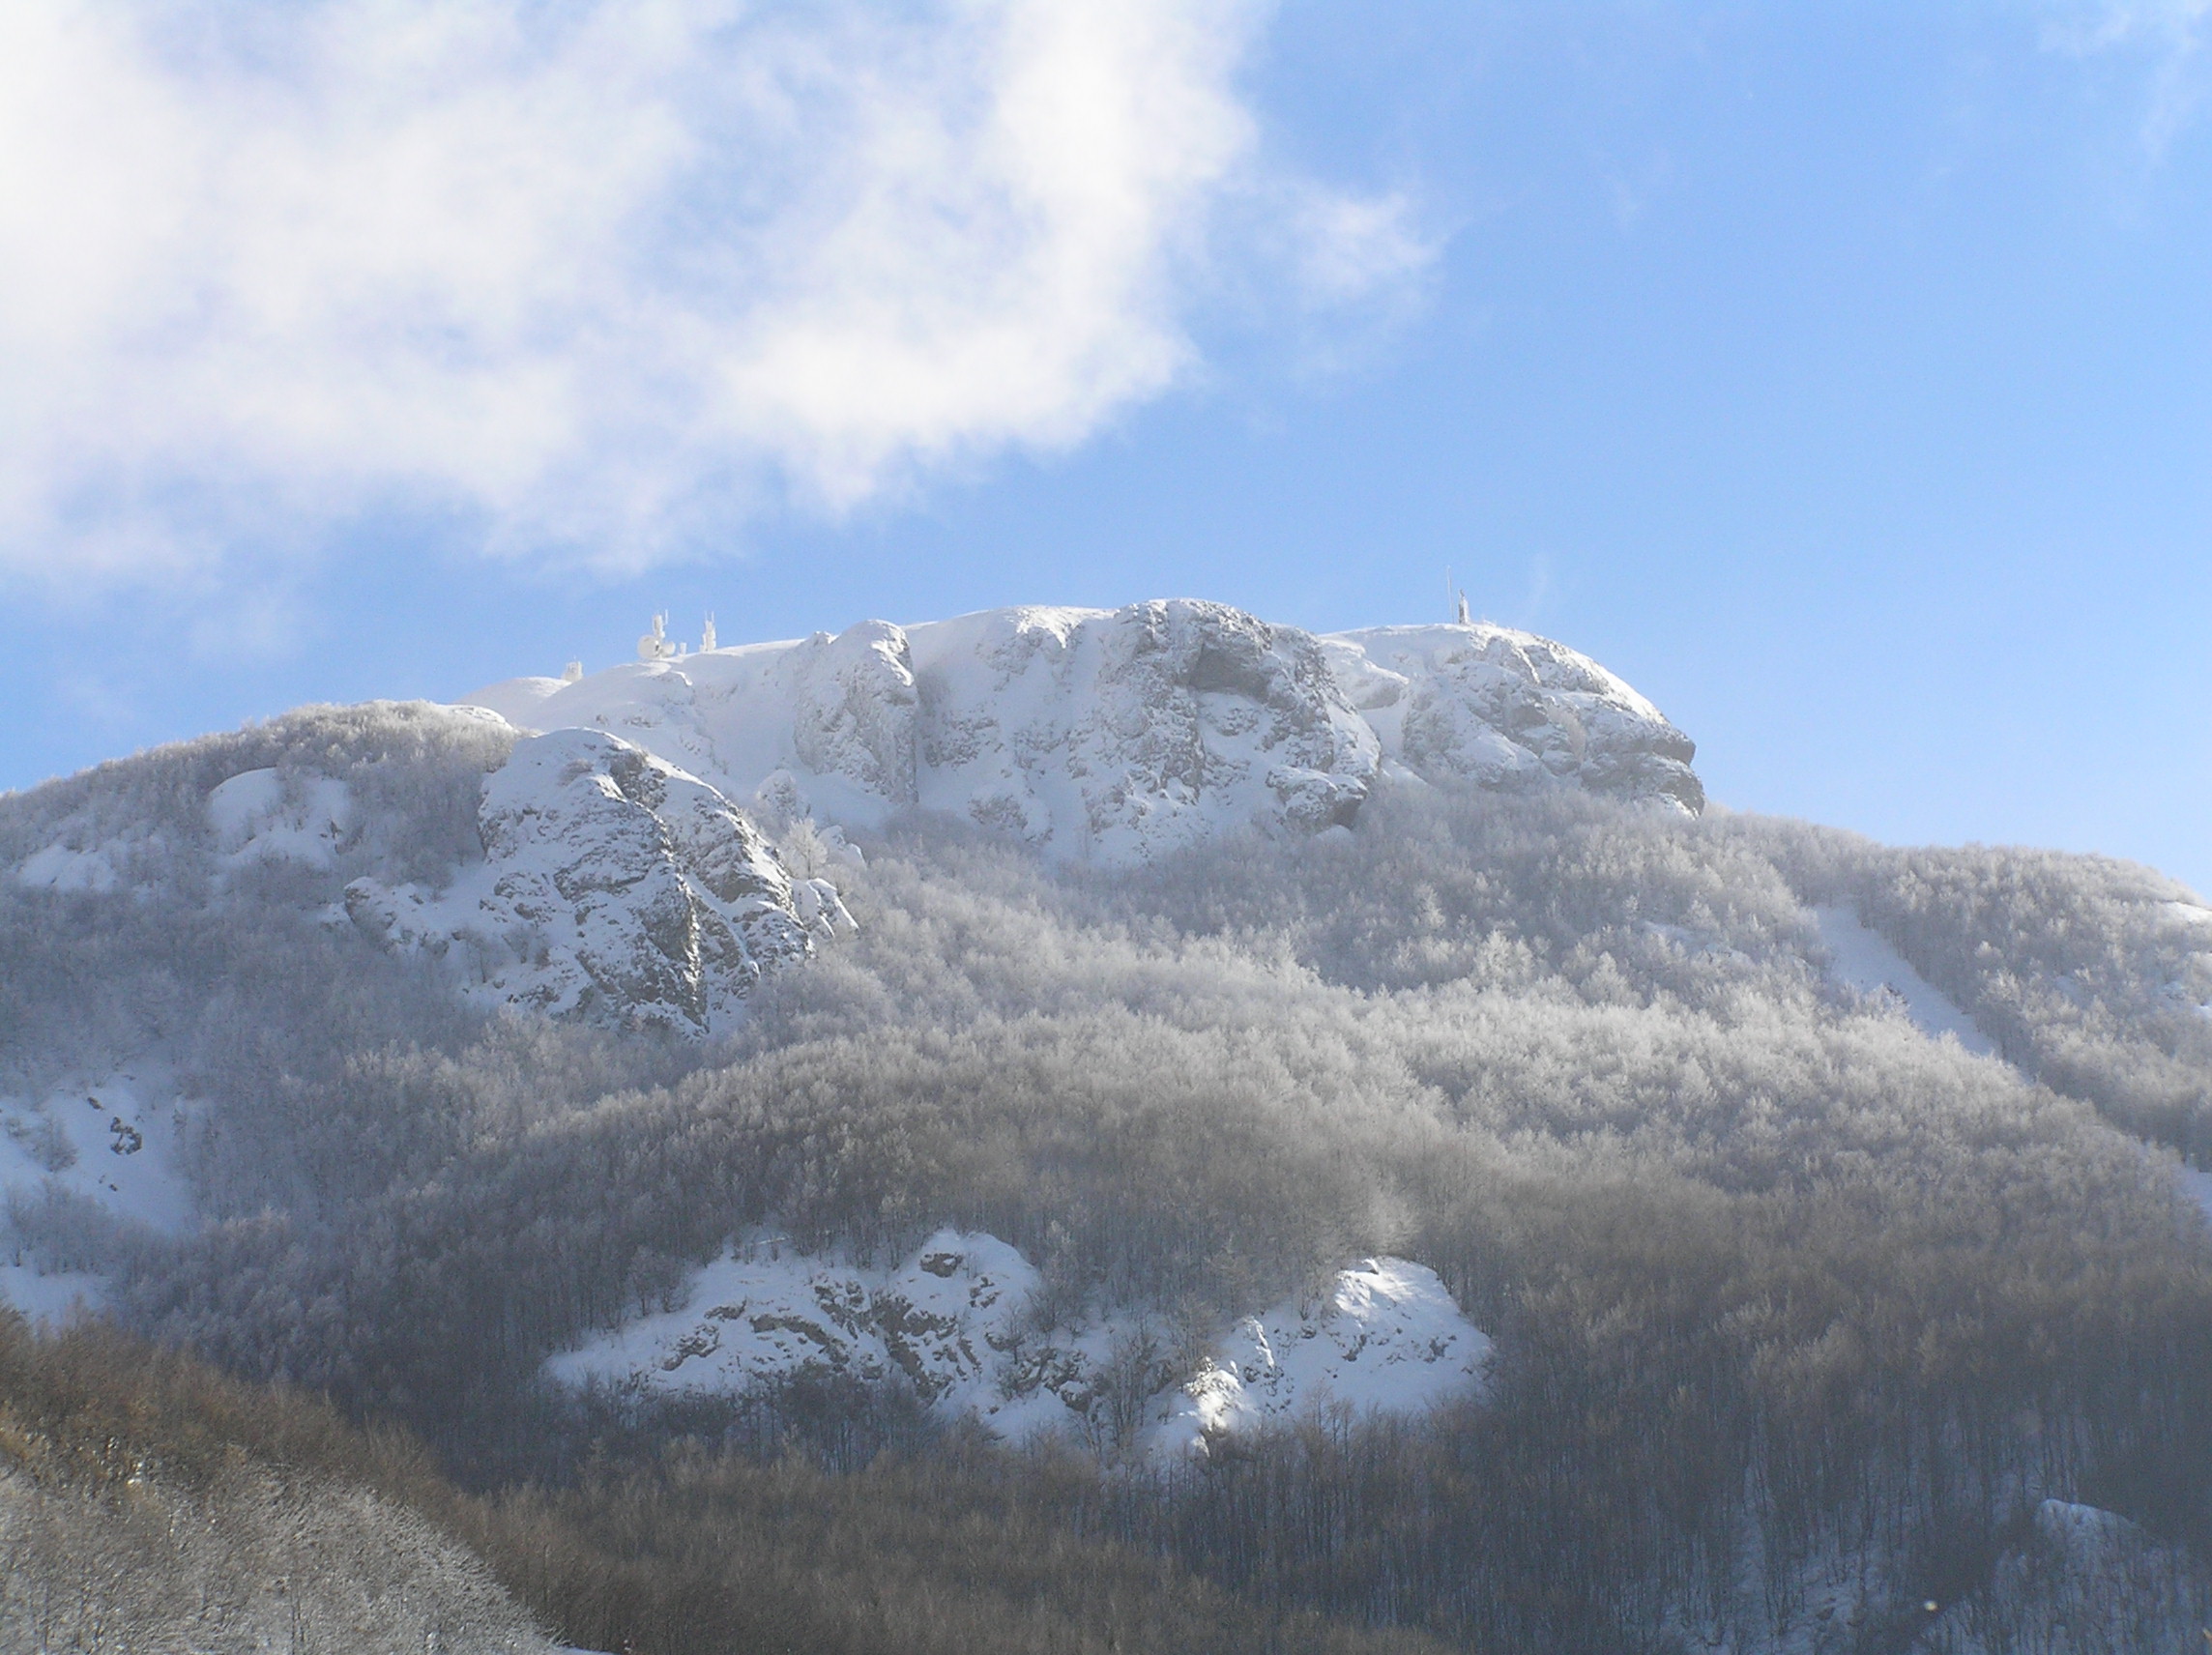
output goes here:
{"type": "Polygon", "coordinates": [[[872,828],[918,805],[1108,865],[1248,823],[1349,823],[1385,761],[1425,781],[1703,803],[1690,739],[1546,639],[1323,639],[1190,600],[863,622],[467,699],[522,728],[622,735],[774,816],[872,828]]]}

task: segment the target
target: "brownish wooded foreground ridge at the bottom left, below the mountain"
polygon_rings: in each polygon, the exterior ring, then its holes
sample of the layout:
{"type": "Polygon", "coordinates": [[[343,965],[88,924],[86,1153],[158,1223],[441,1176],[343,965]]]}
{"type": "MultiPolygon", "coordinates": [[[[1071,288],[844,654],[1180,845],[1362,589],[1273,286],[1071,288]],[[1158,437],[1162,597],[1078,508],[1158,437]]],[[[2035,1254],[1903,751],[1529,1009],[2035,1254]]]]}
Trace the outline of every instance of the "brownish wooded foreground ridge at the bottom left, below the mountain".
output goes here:
{"type": "MultiPolygon", "coordinates": [[[[1062,1471],[1057,1480],[1066,1480],[1062,1471]]],[[[1429,1655],[1254,1613],[953,1463],[679,1449],[469,1498],[405,1434],[0,1310],[0,1651],[1429,1655]]]]}

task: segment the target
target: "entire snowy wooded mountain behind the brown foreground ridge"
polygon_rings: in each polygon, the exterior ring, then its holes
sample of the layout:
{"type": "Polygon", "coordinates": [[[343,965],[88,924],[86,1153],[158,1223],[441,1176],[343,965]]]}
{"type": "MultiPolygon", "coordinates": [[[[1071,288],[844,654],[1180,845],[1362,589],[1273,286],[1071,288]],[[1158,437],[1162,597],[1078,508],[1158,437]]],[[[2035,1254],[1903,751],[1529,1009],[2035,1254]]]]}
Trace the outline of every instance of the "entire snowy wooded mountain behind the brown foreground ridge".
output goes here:
{"type": "Polygon", "coordinates": [[[1489,626],[646,644],[0,797],[0,1294],[562,1485],[549,1597],[752,1602],[748,1509],[825,1613],[1024,1533],[1400,1655],[2201,1640],[2197,892],[1703,812],[1489,626]]]}

